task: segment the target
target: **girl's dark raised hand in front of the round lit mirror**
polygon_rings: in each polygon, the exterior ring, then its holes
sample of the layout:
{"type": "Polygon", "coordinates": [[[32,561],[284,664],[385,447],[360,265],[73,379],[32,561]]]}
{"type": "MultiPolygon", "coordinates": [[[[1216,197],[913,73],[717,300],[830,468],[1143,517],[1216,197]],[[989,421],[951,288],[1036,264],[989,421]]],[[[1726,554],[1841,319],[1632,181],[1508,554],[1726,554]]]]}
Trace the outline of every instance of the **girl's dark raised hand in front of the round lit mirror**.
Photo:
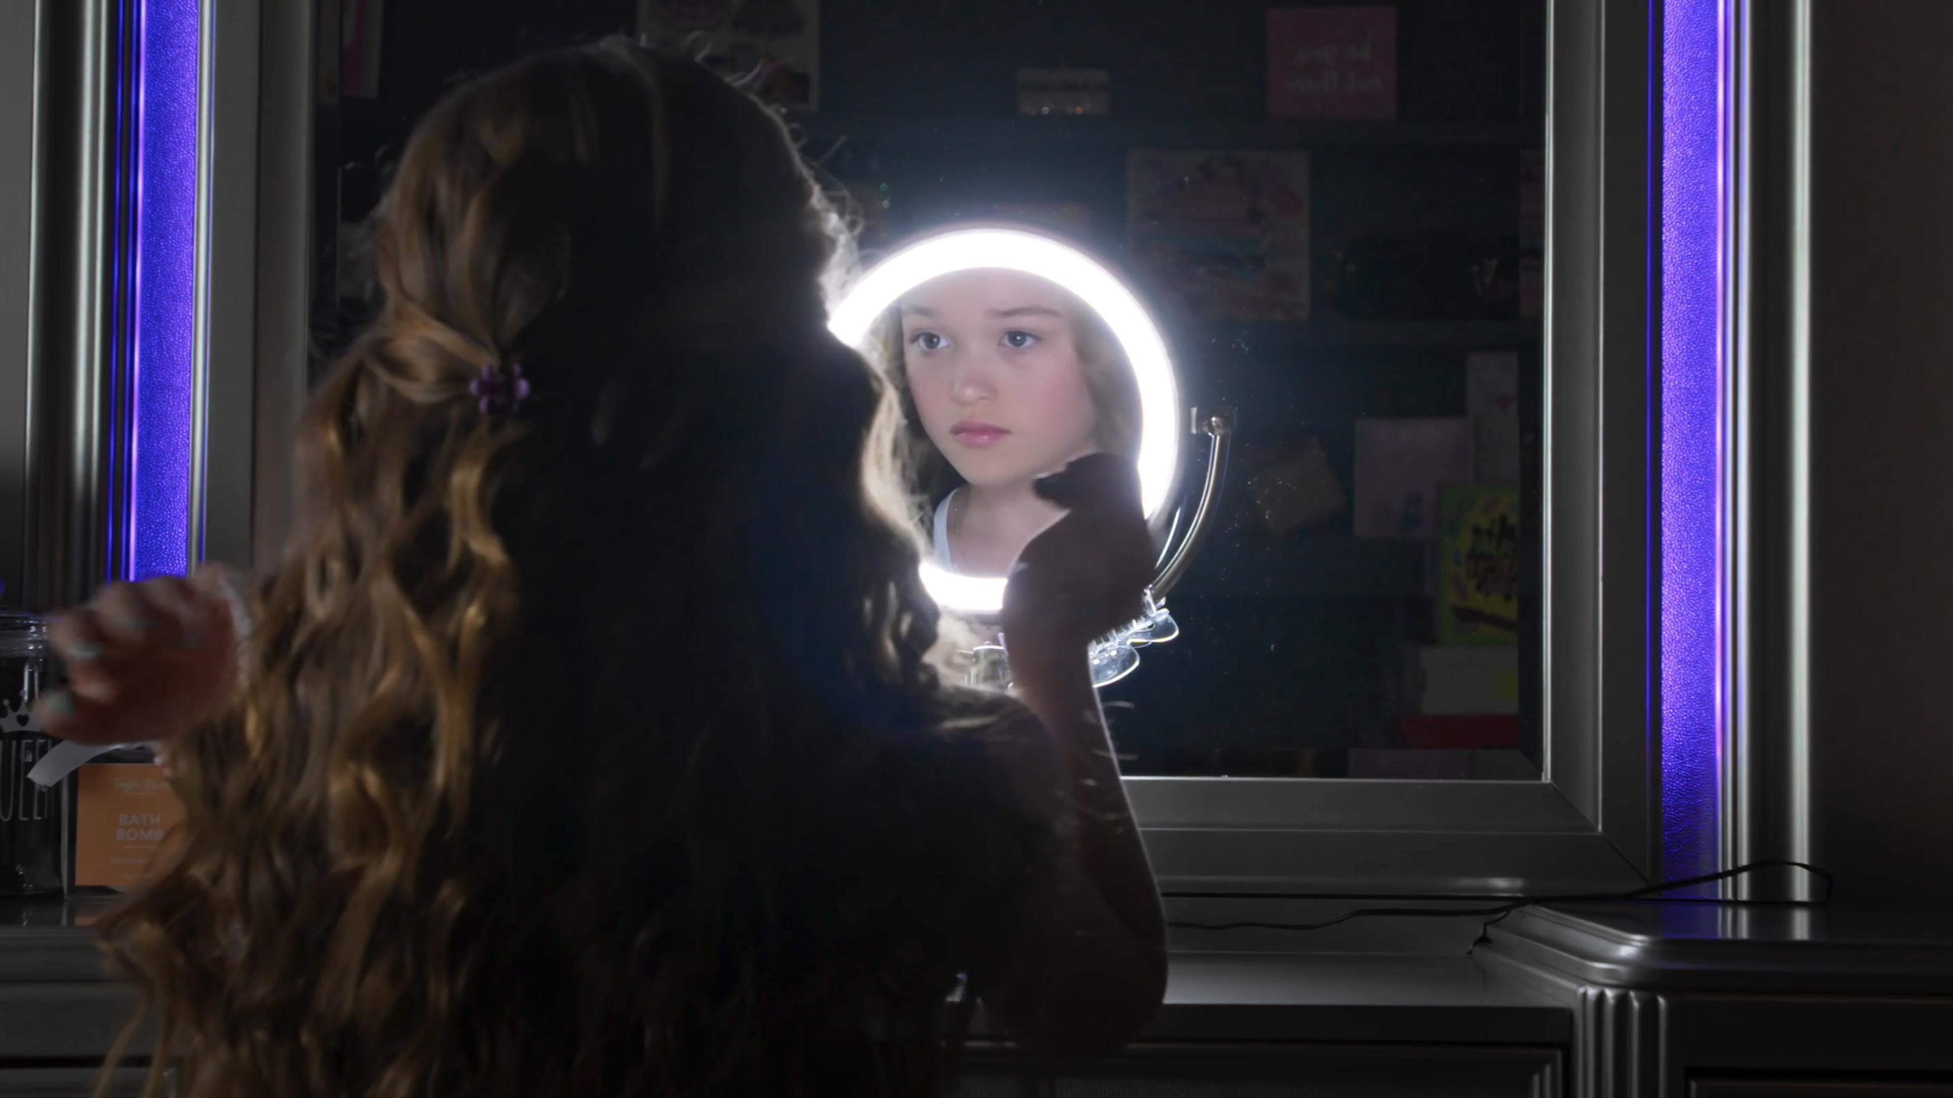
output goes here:
{"type": "Polygon", "coordinates": [[[1137,619],[1152,584],[1154,551],[1131,461],[1092,453],[1037,483],[1066,508],[1031,539],[1004,588],[1004,647],[1084,651],[1137,619]]]}

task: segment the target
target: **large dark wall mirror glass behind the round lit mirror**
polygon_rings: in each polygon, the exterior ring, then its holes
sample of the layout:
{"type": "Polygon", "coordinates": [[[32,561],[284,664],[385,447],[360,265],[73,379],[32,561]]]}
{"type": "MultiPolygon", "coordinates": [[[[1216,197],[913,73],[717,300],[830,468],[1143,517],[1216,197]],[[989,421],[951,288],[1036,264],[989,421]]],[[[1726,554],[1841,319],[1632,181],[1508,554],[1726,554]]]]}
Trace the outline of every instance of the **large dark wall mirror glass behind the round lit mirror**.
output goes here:
{"type": "MultiPolygon", "coordinates": [[[[869,268],[988,229],[1111,279],[1002,254],[871,313],[914,369],[1068,342],[1088,402],[1021,414],[1072,430],[1053,453],[1131,445],[1164,555],[1215,485],[1160,600],[1178,637],[1103,688],[1129,776],[1541,778],[1549,0],[320,0],[320,20],[314,238],[342,244],[316,248],[320,348],[363,317],[357,225],[451,80],[615,31],[691,43],[787,111],[869,268]],[[1144,332],[1105,315],[1127,299],[1144,332]]],[[[941,449],[953,481],[1002,477],[1018,420],[945,406],[924,434],[963,447],[941,449]]],[[[978,578],[1010,553],[941,547],[978,578]]]]}

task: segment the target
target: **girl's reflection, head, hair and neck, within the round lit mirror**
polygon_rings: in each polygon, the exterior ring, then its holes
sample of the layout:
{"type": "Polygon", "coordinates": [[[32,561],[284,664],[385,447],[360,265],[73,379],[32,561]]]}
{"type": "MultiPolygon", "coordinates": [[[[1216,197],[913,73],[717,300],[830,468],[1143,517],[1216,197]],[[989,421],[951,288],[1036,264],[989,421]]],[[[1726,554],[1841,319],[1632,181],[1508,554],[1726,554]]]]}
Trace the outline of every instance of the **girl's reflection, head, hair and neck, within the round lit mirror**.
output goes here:
{"type": "Polygon", "coordinates": [[[1062,510],[1039,477],[1086,453],[1139,453],[1139,385],[1090,307],[1037,275],[935,277],[887,320],[918,445],[935,559],[1006,576],[1062,510]],[[947,469],[943,469],[947,465],[947,469]]]}

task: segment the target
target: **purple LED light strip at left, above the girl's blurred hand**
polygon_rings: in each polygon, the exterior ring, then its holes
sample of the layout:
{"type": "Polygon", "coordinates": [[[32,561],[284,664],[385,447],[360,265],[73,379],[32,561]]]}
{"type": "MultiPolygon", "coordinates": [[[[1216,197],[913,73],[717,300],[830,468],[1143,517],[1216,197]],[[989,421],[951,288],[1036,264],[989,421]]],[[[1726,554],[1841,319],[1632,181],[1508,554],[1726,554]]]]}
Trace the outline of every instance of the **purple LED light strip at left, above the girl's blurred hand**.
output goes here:
{"type": "Polygon", "coordinates": [[[197,328],[197,0],[141,0],[137,35],[135,371],[123,574],[189,569],[197,328]]]}

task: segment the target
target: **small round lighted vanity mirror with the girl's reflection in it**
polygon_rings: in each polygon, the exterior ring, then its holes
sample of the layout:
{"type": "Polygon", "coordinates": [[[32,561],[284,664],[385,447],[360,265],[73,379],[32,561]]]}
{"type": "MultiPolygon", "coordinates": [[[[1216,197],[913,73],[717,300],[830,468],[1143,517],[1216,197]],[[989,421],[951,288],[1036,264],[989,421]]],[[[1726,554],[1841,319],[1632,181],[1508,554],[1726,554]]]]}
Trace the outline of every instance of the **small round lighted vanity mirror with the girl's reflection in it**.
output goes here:
{"type": "Polygon", "coordinates": [[[1025,227],[935,232],[869,270],[828,326],[904,387],[939,606],[1002,610],[1010,565],[1057,518],[1035,479],[1086,453],[1131,457],[1148,526],[1170,533],[1174,363],[1139,297],[1078,246],[1025,227]]]}

